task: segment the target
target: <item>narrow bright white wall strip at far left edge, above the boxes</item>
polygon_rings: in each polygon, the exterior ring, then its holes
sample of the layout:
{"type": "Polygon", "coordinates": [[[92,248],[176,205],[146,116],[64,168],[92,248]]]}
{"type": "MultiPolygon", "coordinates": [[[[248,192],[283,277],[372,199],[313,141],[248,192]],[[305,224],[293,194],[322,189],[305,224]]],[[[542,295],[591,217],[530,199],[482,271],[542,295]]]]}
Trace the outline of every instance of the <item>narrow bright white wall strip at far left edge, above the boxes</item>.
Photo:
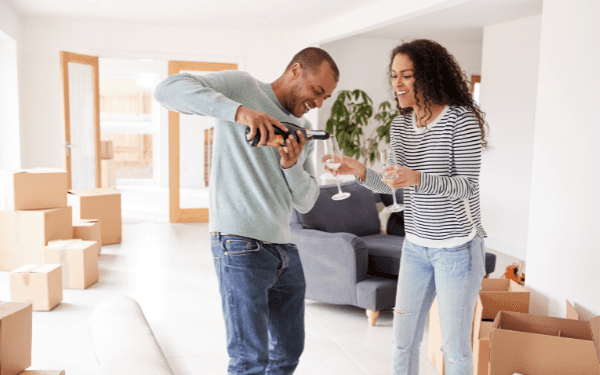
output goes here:
{"type": "Polygon", "coordinates": [[[0,0],[0,170],[21,168],[19,49],[21,15],[0,0]]]}

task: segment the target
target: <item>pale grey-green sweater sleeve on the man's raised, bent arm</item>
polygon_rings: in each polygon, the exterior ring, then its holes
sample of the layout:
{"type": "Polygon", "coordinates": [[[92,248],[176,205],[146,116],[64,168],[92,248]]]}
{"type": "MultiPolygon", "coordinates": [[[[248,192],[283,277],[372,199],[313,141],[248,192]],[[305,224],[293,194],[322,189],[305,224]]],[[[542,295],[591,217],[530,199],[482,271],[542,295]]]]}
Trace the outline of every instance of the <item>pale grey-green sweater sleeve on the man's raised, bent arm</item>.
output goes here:
{"type": "Polygon", "coordinates": [[[174,74],[156,86],[154,98],[171,111],[234,122],[241,104],[228,97],[231,90],[225,77],[232,74],[239,72],[225,71],[205,76],[174,74]]]}

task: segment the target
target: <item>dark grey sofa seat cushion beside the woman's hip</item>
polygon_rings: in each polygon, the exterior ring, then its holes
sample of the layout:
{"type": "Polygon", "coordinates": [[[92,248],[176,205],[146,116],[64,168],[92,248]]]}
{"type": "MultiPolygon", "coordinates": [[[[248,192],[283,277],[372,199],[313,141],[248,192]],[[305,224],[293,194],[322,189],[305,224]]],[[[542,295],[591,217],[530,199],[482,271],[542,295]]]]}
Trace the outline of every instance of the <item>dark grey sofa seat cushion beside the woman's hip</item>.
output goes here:
{"type": "Polygon", "coordinates": [[[369,252],[369,275],[398,276],[404,237],[375,234],[361,239],[369,252]]]}

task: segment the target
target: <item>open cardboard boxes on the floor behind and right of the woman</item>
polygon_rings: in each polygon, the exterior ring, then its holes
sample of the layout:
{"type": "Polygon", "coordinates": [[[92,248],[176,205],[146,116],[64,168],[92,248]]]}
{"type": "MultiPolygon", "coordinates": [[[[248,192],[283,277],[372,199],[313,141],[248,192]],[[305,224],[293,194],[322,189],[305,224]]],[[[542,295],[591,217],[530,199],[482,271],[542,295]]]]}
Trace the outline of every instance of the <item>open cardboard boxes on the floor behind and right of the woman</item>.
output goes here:
{"type": "MultiPolygon", "coordinates": [[[[600,375],[600,317],[589,322],[529,314],[530,292],[483,279],[473,318],[474,375],[600,375]]],[[[574,318],[575,317],[575,318],[574,318]]],[[[428,357],[445,374],[439,306],[429,316],[428,357]]]]}

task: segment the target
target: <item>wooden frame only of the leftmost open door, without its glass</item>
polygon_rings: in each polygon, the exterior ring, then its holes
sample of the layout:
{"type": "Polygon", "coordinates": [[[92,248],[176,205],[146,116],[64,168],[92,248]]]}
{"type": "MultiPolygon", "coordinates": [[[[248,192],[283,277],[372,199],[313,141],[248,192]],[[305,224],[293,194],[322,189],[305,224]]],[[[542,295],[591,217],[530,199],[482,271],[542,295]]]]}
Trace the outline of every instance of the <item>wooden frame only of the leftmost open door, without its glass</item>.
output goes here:
{"type": "Polygon", "coordinates": [[[60,51],[60,78],[62,82],[62,101],[63,101],[63,123],[64,123],[64,161],[67,170],[68,188],[71,189],[71,152],[69,151],[71,142],[71,113],[69,102],[69,63],[90,65],[93,75],[94,90],[94,166],[96,176],[96,187],[101,187],[101,167],[100,167],[100,74],[98,69],[98,57],[81,55],[72,52],[60,51]]]}

